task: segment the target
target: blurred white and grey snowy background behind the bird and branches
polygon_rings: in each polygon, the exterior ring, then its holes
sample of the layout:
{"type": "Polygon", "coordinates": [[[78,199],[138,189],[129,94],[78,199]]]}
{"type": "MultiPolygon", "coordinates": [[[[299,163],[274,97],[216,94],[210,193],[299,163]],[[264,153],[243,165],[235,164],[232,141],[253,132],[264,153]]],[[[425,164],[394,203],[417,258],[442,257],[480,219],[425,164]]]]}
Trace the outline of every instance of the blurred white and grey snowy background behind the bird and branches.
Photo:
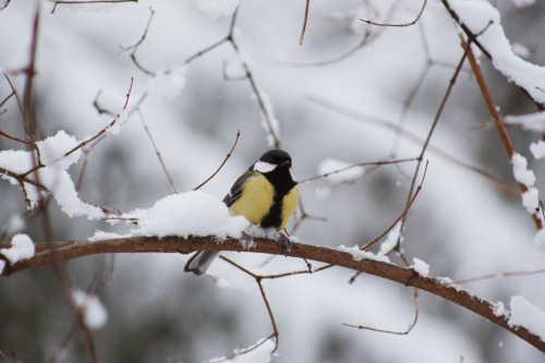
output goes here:
{"type": "MultiPolygon", "coordinates": [[[[533,113],[536,107],[507,80],[519,80],[543,101],[540,97],[545,87],[540,88],[540,84],[545,77],[538,75],[545,72],[540,66],[545,64],[545,3],[491,2],[501,15],[512,49],[522,58],[513,58],[509,47],[501,48],[509,44],[501,43],[505,39],[499,26],[491,26],[489,33],[483,34],[483,43],[499,45],[495,51],[502,57],[494,64],[482,57],[481,65],[501,114],[519,122],[522,119],[517,116],[533,113]]],[[[149,208],[173,193],[144,123],[182,192],[192,190],[218,168],[240,130],[231,159],[202,189],[222,199],[237,177],[270,147],[255,93],[242,77],[243,63],[250,66],[265,98],[268,117],[278,122],[281,147],[292,156],[295,179],[308,179],[347,164],[414,158],[420,154],[463,52],[457,28],[439,1],[429,1],[419,22],[408,27],[378,27],[359,20],[408,23],[417,15],[421,2],[312,1],[303,46],[299,38],[304,1],[218,3],[159,0],[59,4],[51,13],[53,3],[41,2],[34,88],[40,140],[63,130],[81,142],[106,128],[112,117],[100,114],[95,100],[120,112],[131,78],[128,110],[142,100],[140,112],[124,112],[119,129],[110,130],[106,138],[87,148],[90,152],[78,191],[81,201],[129,213],[149,208]],[[233,36],[240,52],[225,43],[186,64],[190,57],[228,35],[238,5],[233,36]],[[135,65],[131,49],[122,51],[142,38],[150,7],[154,15],[135,56],[156,76],[135,65]],[[364,46],[352,51],[362,39],[364,46]],[[404,134],[396,134],[388,124],[401,124],[404,134]]],[[[486,27],[488,14],[496,14],[485,1],[451,3],[461,13],[472,14],[467,21],[475,26],[475,33],[486,27]]],[[[12,0],[0,11],[0,69],[21,97],[21,70],[29,62],[36,4],[12,0]]],[[[2,77],[0,99],[10,93],[2,77]]],[[[543,116],[534,118],[534,124],[543,128],[543,116]]],[[[0,108],[0,130],[24,137],[13,97],[0,108]]],[[[541,133],[518,126],[508,128],[508,132],[514,149],[526,157],[535,172],[535,187],[545,193],[544,161],[530,150],[541,133]]],[[[72,145],[74,141],[61,144],[72,145]]],[[[24,147],[0,137],[0,153],[9,149],[24,147]]],[[[534,241],[536,230],[520,196],[461,166],[476,167],[516,186],[512,166],[467,63],[425,159],[429,166],[424,189],[403,232],[409,261],[417,257],[431,266],[432,276],[452,280],[544,267],[544,246],[534,241]]],[[[68,170],[77,184],[83,153],[70,162],[74,164],[60,169],[68,170]]],[[[304,209],[319,220],[305,219],[295,235],[303,243],[330,246],[372,241],[404,209],[414,167],[415,162],[368,167],[344,177],[302,183],[304,209]]],[[[51,185],[60,187],[58,183],[51,185]]],[[[34,241],[44,240],[39,218],[24,222],[17,218],[27,206],[16,185],[1,181],[0,204],[1,243],[9,243],[17,232],[34,241]]],[[[59,201],[49,205],[57,241],[87,240],[97,230],[126,233],[132,227],[89,220],[63,207],[59,201]]],[[[87,216],[96,218],[89,210],[87,216]]],[[[268,256],[227,255],[261,271],[306,266],[302,261],[280,257],[264,265],[268,256]]],[[[396,255],[390,258],[401,265],[396,255]]],[[[270,335],[270,320],[252,278],[222,261],[209,270],[216,279],[184,274],[185,259],[146,254],[93,256],[66,263],[81,289],[86,289],[106,266],[107,283],[97,292],[107,311],[102,313],[108,316],[106,325],[95,332],[99,361],[203,361],[229,355],[234,348],[249,347],[270,335]]],[[[542,353],[526,342],[425,292],[420,293],[417,324],[407,336],[342,326],[347,323],[403,331],[414,318],[412,289],[365,275],[349,285],[351,276],[349,270],[334,268],[265,281],[280,331],[274,362],[543,360],[542,353]]],[[[544,283],[543,275],[530,275],[484,279],[463,287],[507,307],[511,297],[521,295],[545,310],[544,283]]],[[[4,353],[13,352],[22,362],[45,361],[53,353],[70,331],[73,312],[50,266],[0,280],[0,350],[4,353]]],[[[246,359],[268,362],[270,349],[265,344],[246,359]]],[[[81,361],[82,354],[76,340],[58,358],[81,361]]]]}

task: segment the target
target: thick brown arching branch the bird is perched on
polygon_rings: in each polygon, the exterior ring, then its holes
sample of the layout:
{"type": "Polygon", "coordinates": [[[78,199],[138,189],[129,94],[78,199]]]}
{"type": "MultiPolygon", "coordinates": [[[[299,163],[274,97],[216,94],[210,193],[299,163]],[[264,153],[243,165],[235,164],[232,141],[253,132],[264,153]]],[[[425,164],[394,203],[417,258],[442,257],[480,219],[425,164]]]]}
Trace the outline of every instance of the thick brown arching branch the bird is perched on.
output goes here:
{"type": "MultiPolygon", "coordinates": [[[[266,253],[314,259],[383,277],[408,287],[425,290],[481,315],[482,317],[499,325],[504,329],[525,340],[540,351],[545,352],[545,341],[543,341],[540,336],[531,332],[522,326],[510,326],[508,316],[497,316],[494,314],[494,305],[492,303],[475,297],[463,289],[460,289],[459,286],[453,286],[452,283],[445,282],[438,278],[421,276],[412,268],[403,268],[371,258],[356,261],[352,254],[331,247],[292,243],[291,251],[287,252],[280,243],[274,240],[255,238],[254,241],[256,243],[249,250],[246,250],[237,239],[227,239],[221,243],[218,243],[218,239],[215,237],[190,237],[187,239],[174,235],[165,238],[133,237],[97,242],[70,241],[58,242],[55,244],[37,243],[36,254],[34,257],[14,264],[8,270],[9,273],[15,273],[33,267],[48,265],[52,263],[53,255],[55,258],[70,259],[102,253],[162,252],[187,254],[195,251],[208,250],[266,253]]],[[[2,247],[9,247],[9,245],[0,245],[0,249],[2,247]]]]}

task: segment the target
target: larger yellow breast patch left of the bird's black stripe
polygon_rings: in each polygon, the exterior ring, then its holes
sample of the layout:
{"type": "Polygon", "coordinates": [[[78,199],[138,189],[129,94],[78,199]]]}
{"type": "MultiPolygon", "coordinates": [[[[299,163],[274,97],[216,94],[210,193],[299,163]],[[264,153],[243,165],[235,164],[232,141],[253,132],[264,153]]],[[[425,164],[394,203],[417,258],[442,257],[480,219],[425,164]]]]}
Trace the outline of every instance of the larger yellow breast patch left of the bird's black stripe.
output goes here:
{"type": "Polygon", "coordinates": [[[231,216],[244,216],[252,223],[259,223],[269,213],[275,187],[262,174],[250,177],[242,186],[242,195],[229,207],[231,216]]]}

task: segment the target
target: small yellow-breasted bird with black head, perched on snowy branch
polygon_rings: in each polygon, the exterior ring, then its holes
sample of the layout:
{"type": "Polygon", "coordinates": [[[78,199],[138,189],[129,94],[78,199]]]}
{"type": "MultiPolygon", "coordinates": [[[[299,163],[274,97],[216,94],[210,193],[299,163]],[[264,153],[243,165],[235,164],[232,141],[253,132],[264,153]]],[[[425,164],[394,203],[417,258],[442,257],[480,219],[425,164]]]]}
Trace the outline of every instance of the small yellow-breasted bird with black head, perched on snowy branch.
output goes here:
{"type": "MultiPolygon", "coordinates": [[[[291,250],[290,240],[281,233],[299,203],[299,186],[291,176],[291,157],[271,149],[252,165],[223,198],[231,216],[244,216],[264,229],[274,228],[280,242],[291,250]]],[[[202,275],[219,251],[199,251],[185,264],[184,271],[202,275]]]]}

